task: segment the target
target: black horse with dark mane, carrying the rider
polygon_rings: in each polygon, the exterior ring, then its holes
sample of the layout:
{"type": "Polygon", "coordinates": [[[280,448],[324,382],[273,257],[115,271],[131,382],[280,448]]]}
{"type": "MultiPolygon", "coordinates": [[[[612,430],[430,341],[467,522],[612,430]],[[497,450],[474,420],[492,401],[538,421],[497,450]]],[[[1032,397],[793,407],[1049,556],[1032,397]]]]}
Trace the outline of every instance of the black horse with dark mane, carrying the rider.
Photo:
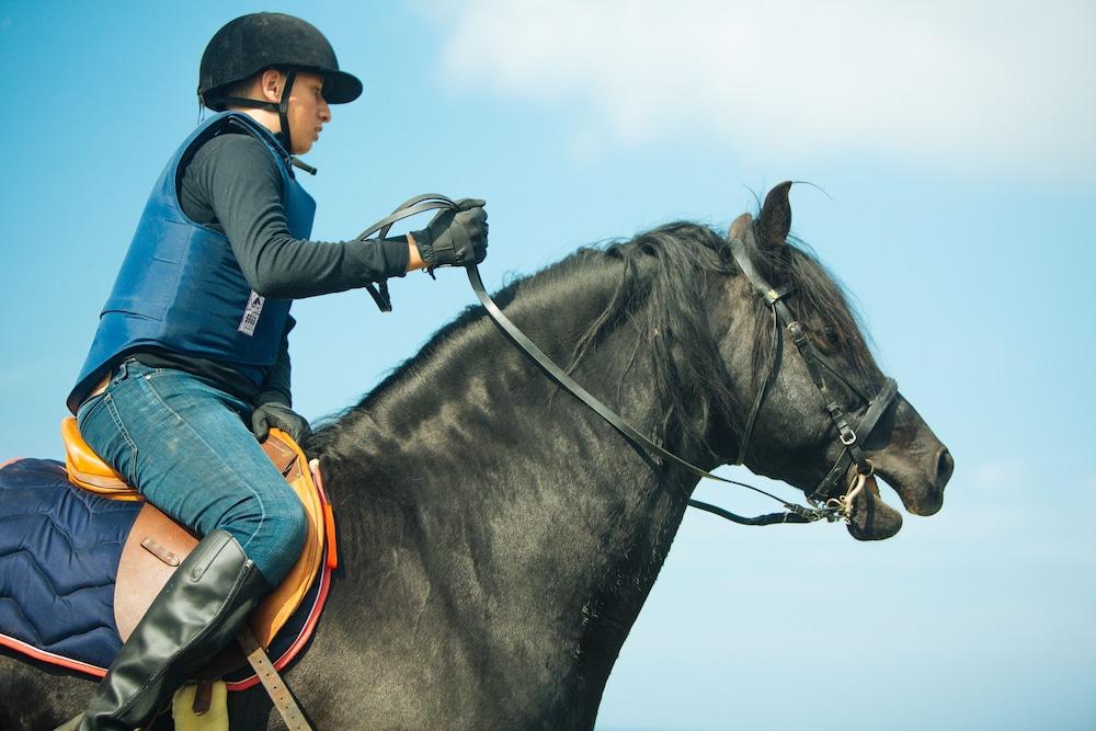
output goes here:
{"type": "MultiPolygon", "coordinates": [[[[749,255],[813,344],[865,393],[883,377],[840,288],[786,241],[787,186],[749,255]]],[[[552,358],[640,431],[713,468],[733,461],[769,364],[745,464],[812,489],[842,450],[803,359],[772,352],[772,313],[726,239],[688,222],[583,249],[498,295],[552,358]]],[[[867,404],[837,391],[850,420],[867,404]]],[[[916,514],[951,457],[901,396],[864,448],[916,514]]],[[[589,729],[697,478],[627,442],[470,308],[361,403],[318,429],[343,568],[286,674],[320,729],[589,729]]],[[[899,514],[857,498],[849,530],[899,514]]],[[[776,529],[776,528],[774,528],[776,529]]],[[[781,528],[792,529],[792,528],[781,528]]],[[[0,656],[0,728],[53,728],[92,684],[0,656]]],[[[261,688],[236,728],[279,728],[261,688]]]]}

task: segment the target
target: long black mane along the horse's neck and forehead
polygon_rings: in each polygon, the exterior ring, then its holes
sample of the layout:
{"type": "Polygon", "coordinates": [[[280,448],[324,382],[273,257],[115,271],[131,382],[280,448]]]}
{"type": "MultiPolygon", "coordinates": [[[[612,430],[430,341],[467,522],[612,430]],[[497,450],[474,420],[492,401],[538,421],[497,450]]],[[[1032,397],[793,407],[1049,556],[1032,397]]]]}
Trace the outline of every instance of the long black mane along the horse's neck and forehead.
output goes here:
{"type": "MultiPolygon", "coordinates": [[[[815,344],[824,352],[845,352],[852,361],[854,377],[874,388],[878,369],[868,353],[858,318],[842,287],[806,244],[795,241],[778,248],[756,247],[751,256],[770,283],[779,286],[790,282],[795,286],[789,304],[815,344]]],[[[731,388],[732,375],[719,357],[718,342],[701,305],[708,287],[722,278],[719,275],[738,273],[724,232],[676,221],[632,239],[584,247],[539,272],[511,282],[493,298],[505,308],[520,296],[535,311],[538,299],[558,298],[561,283],[589,275],[592,267],[608,262],[623,263],[623,274],[619,266],[604,267],[604,272],[615,273],[607,275],[619,276],[619,282],[608,306],[576,340],[567,364],[569,368],[574,369],[609,333],[627,323],[649,345],[659,403],[665,406],[658,438],[703,445],[706,436],[701,433],[703,424],[708,423],[712,412],[724,415],[738,433],[745,422],[747,407],[739,402],[731,388]]],[[[770,357],[772,315],[760,297],[755,298],[753,312],[754,367],[747,377],[754,379],[756,388],[770,357]]],[[[484,317],[478,305],[466,308],[358,403],[323,420],[309,442],[310,450],[326,452],[338,438],[340,424],[357,421],[347,416],[370,412],[380,399],[444,355],[461,333],[484,317]]]]}

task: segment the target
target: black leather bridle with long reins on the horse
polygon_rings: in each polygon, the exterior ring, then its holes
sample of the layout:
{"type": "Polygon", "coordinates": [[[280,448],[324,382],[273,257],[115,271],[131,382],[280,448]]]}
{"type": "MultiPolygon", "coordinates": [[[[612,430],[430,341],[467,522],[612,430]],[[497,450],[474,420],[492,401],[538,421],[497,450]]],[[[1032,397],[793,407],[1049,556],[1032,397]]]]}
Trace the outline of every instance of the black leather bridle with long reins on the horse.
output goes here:
{"type": "MultiPolygon", "coordinates": [[[[379,237],[385,238],[387,236],[391,226],[403,218],[414,216],[416,214],[425,213],[427,210],[435,209],[456,209],[457,205],[444,195],[436,193],[427,193],[425,195],[419,195],[410,201],[404,202],[399,207],[396,208],[392,214],[385,217],[384,219],[377,221],[368,229],[363,231],[358,236],[358,240],[364,240],[379,231],[379,237]]],[[[466,266],[468,274],[468,281],[471,284],[472,290],[479,298],[480,302],[487,309],[488,315],[494,323],[502,330],[502,332],[526,355],[528,355],[533,362],[547,375],[549,378],[559,384],[562,388],[568,390],[571,395],[578,398],[580,401],[590,407],[595,413],[597,413],[602,419],[608,422],[614,429],[616,429],[626,439],[628,439],[633,446],[639,447],[641,450],[646,452],[651,459],[654,461],[667,460],[672,461],[680,467],[683,467],[687,471],[710,480],[716,480],[719,482],[724,482],[728,484],[734,484],[738,487],[746,488],[753,490],[754,492],[767,495],[773,500],[781,503],[787,512],[781,513],[768,513],[765,515],[758,515],[756,517],[744,517],[737,515],[729,511],[726,511],[717,505],[710,503],[701,502],[699,500],[688,500],[688,504],[693,507],[719,515],[734,523],[742,525],[770,525],[774,523],[813,523],[814,521],[826,519],[831,523],[838,519],[844,519],[849,522],[852,517],[852,505],[853,500],[857,494],[864,489],[867,479],[871,476],[874,467],[871,460],[867,458],[864,450],[860,447],[860,441],[867,437],[868,434],[875,429],[879,419],[882,416],[883,412],[887,411],[894,397],[898,395],[898,385],[892,378],[888,378],[883,384],[883,387],[876,395],[874,399],[866,398],[863,392],[856,388],[855,385],[849,382],[848,379],[844,378],[841,373],[829,362],[818,349],[810,342],[807,334],[803,332],[802,327],[791,315],[791,310],[788,309],[787,304],[784,298],[787,297],[791,292],[792,287],[785,286],[780,288],[774,288],[765,282],[756,269],[753,266],[753,262],[750,260],[746,251],[746,244],[743,241],[742,235],[734,235],[735,231],[745,231],[746,236],[752,236],[752,226],[744,224],[750,222],[749,214],[743,215],[735,221],[732,226],[731,231],[731,254],[734,258],[734,262],[738,264],[739,269],[745,275],[745,277],[753,285],[754,289],[761,295],[765,300],[766,305],[773,312],[773,358],[769,363],[768,370],[765,376],[765,380],[762,382],[761,388],[757,391],[757,396],[754,400],[754,404],[750,410],[750,416],[746,421],[746,426],[743,430],[742,438],[740,439],[739,446],[739,457],[735,461],[737,465],[741,465],[745,459],[746,449],[749,448],[750,438],[753,434],[754,424],[757,419],[757,413],[761,411],[762,402],[765,400],[765,395],[768,391],[768,387],[773,379],[774,372],[776,369],[776,358],[780,350],[780,333],[781,328],[779,323],[783,322],[784,329],[787,329],[788,333],[791,335],[792,342],[796,344],[799,353],[802,355],[804,363],[807,364],[807,369],[811,375],[811,379],[818,387],[819,392],[822,395],[823,401],[825,402],[826,411],[830,414],[831,420],[837,432],[837,438],[841,441],[843,448],[837,460],[834,462],[833,467],[830,468],[826,476],[822,478],[822,481],[818,484],[814,490],[812,490],[807,495],[807,501],[810,503],[810,507],[804,505],[798,505],[785,501],[770,492],[761,490],[745,482],[739,482],[737,480],[730,480],[718,475],[712,475],[711,472],[693,465],[692,462],[682,459],[681,457],[674,455],[673,453],[666,450],[661,445],[657,444],[649,437],[644,436],[638,430],[636,430],[631,424],[621,419],[615,411],[609,409],[607,406],[602,403],[593,395],[591,395],[581,385],[575,382],[562,368],[560,368],[548,355],[544,353],[537,345],[528,339],[518,328],[511,322],[511,320],[502,312],[494,300],[491,299],[490,295],[487,294],[487,289],[483,287],[483,281],[480,278],[479,270],[475,264],[466,266]],[[740,224],[743,224],[740,226],[740,224]],[[868,403],[868,410],[864,414],[854,430],[848,424],[848,418],[841,408],[838,401],[833,397],[831,390],[826,386],[825,372],[835,377],[842,384],[844,384],[852,392],[859,396],[868,403]],[[844,493],[840,492],[840,486],[842,483],[842,478],[850,472],[853,465],[856,465],[856,471],[847,480],[847,486],[844,493]]],[[[385,288],[387,289],[387,288],[385,288]]],[[[372,289],[370,295],[374,295],[374,299],[381,311],[389,311],[391,306],[387,301],[387,297],[384,301],[377,296],[372,289]]],[[[385,292],[387,295],[387,292],[385,292]]]]}

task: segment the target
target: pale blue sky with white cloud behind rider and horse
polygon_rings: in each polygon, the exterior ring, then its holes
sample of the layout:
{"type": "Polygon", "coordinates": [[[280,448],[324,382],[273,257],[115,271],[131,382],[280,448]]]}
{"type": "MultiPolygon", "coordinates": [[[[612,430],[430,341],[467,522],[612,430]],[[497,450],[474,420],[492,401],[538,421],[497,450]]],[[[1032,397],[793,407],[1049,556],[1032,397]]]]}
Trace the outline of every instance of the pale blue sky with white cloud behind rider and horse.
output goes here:
{"type": "MultiPolygon", "coordinates": [[[[0,0],[0,459],[60,454],[202,49],[261,9],[315,23],[365,82],[308,157],[317,238],[420,192],[484,197],[496,287],[812,181],[827,195],[792,190],[794,232],[955,455],[944,510],[882,544],[687,516],[600,729],[1096,726],[1096,7],[0,0]]],[[[384,317],[364,293],[295,306],[305,415],[472,301],[459,273],[392,289],[384,317]]]]}

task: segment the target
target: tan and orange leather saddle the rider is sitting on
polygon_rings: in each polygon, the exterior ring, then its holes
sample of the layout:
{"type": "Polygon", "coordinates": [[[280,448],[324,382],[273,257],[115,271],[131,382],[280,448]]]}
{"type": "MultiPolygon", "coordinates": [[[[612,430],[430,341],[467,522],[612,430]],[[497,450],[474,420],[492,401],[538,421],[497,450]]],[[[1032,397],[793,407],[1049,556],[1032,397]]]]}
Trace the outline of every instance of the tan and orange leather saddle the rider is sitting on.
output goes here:
{"type": "MultiPolygon", "coordinates": [[[[136,489],[126,484],[125,479],[92,452],[80,436],[76,419],[69,416],[61,422],[61,436],[70,482],[112,500],[144,500],[136,489]]],[[[251,630],[259,643],[269,648],[277,631],[300,606],[316,579],[324,546],[328,548],[328,564],[334,568],[336,558],[331,506],[317,490],[300,447],[277,429],[271,430],[262,447],[300,498],[308,514],[308,537],[300,558],[250,618],[251,630]]],[[[123,641],[197,542],[193,534],[156,506],[146,503],[141,507],[122,550],[114,585],[114,618],[123,641]]]]}

